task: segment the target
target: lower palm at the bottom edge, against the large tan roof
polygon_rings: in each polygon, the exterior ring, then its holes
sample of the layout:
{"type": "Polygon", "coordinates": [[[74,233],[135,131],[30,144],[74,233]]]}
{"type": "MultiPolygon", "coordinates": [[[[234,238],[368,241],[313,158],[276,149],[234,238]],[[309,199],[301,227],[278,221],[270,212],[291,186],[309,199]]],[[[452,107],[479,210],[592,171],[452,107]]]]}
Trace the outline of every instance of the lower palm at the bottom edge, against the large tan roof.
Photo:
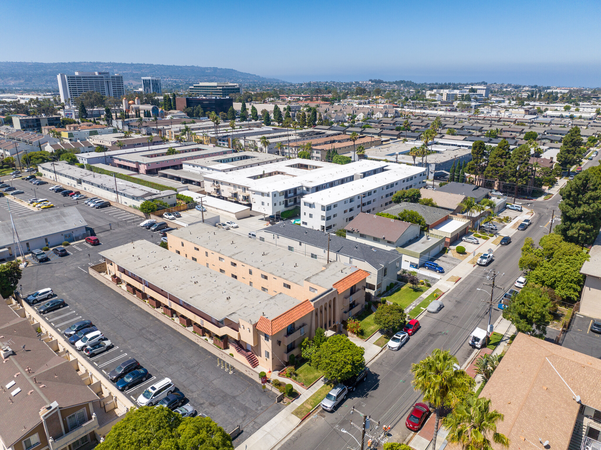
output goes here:
{"type": "Polygon", "coordinates": [[[459,444],[463,450],[493,450],[492,442],[509,448],[508,437],[496,431],[496,423],[503,419],[496,409],[490,410],[490,398],[471,395],[442,419],[442,425],[449,430],[448,442],[459,444]]]}

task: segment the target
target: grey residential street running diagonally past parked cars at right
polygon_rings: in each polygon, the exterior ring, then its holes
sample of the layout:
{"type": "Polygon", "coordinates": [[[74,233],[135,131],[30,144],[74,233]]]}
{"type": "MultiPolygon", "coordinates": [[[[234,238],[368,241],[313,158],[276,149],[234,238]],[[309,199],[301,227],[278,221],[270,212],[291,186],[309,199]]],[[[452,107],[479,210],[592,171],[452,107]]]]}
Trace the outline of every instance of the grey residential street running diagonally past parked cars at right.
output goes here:
{"type": "MultiPolygon", "coordinates": [[[[410,338],[409,342],[398,351],[384,350],[376,360],[370,364],[370,375],[367,382],[347,398],[334,413],[321,409],[316,410],[309,418],[297,428],[291,437],[282,443],[280,448],[297,449],[340,449],[347,446],[354,448],[356,442],[353,437],[342,433],[344,428],[361,440],[361,431],[350,425],[360,424],[361,416],[350,415],[354,405],[361,413],[371,415],[371,418],[380,421],[380,426],[391,425],[391,441],[403,442],[410,431],[404,425],[404,419],[420,395],[413,391],[410,384],[411,364],[423,359],[434,348],[450,348],[457,356],[460,365],[472,354],[468,345],[468,336],[475,327],[486,328],[488,322],[487,305],[481,302],[489,294],[477,291],[482,288],[490,292],[486,275],[490,270],[496,270],[504,275],[496,278],[496,284],[508,290],[521,271],[517,267],[520,258],[520,248],[526,236],[532,237],[535,242],[548,233],[549,219],[552,209],[556,215],[559,213],[557,204],[560,197],[556,195],[548,201],[525,203],[524,207],[535,211],[532,225],[526,231],[516,231],[512,242],[508,246],[499,246],[495,251],[495,259],[488,267],[477,267],[474,272],[463,279],[457,287],[442,297],[445,308],[438,314],[426,314],[420,320],[421,329],[410,338]],[[541,228],[541,227],[547,227],[541,228]]],[[[557,222],[555,222],[557,223],[557,222]]],[[[483,249],[486,247],[483,246],[483,249]]],[[[495,290],[495,297],[501,294],[495,290]]],[[[495,323],[501,312],[493,308],[491,323],[495,323]]]]}

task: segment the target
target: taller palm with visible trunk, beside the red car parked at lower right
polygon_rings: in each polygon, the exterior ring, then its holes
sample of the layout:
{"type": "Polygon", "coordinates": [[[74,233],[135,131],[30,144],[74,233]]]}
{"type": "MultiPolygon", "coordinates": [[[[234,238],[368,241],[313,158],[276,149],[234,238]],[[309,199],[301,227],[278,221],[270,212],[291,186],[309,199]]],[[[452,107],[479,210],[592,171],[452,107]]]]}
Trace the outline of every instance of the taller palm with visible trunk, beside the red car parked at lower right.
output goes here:
{"type": "Polygon", "coordinates": [[[441,410],[445,401],[453,397],[453,390],[462,384],[455,373],[453,364],[457,364],[457,358],[449,350],[435,348],[426,359],[411,365],[413,389],[421,392],[424,396],[423,400],[427,401],[436,412],[432,437],[432,448],[434,449],[436,448],[441,410]]]}

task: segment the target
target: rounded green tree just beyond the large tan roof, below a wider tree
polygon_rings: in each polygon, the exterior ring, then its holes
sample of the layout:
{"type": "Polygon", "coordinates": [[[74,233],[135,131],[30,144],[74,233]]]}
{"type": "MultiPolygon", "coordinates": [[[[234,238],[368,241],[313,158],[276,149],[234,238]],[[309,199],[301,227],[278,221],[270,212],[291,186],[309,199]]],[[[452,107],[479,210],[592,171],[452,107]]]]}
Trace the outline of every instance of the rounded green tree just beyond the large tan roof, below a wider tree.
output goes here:
{"type": "Polygon", "coordinates": [[[551,300],[539,288],[523,287],[503,310],[503,317],[510,320],[520,333],[545,335],[547,325],[553,318],[549,312],[551,300]]]}

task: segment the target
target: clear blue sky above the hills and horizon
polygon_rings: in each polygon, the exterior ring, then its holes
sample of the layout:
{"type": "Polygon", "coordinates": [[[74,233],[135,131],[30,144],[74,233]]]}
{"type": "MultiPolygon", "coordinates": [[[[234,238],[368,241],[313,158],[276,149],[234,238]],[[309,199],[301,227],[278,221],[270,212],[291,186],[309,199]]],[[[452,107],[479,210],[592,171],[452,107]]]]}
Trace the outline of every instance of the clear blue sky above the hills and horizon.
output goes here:
{"type": "Polygon", "coordinates": [[[601,2],[5,1],[4,61],[599,87],[601,2]]]}

